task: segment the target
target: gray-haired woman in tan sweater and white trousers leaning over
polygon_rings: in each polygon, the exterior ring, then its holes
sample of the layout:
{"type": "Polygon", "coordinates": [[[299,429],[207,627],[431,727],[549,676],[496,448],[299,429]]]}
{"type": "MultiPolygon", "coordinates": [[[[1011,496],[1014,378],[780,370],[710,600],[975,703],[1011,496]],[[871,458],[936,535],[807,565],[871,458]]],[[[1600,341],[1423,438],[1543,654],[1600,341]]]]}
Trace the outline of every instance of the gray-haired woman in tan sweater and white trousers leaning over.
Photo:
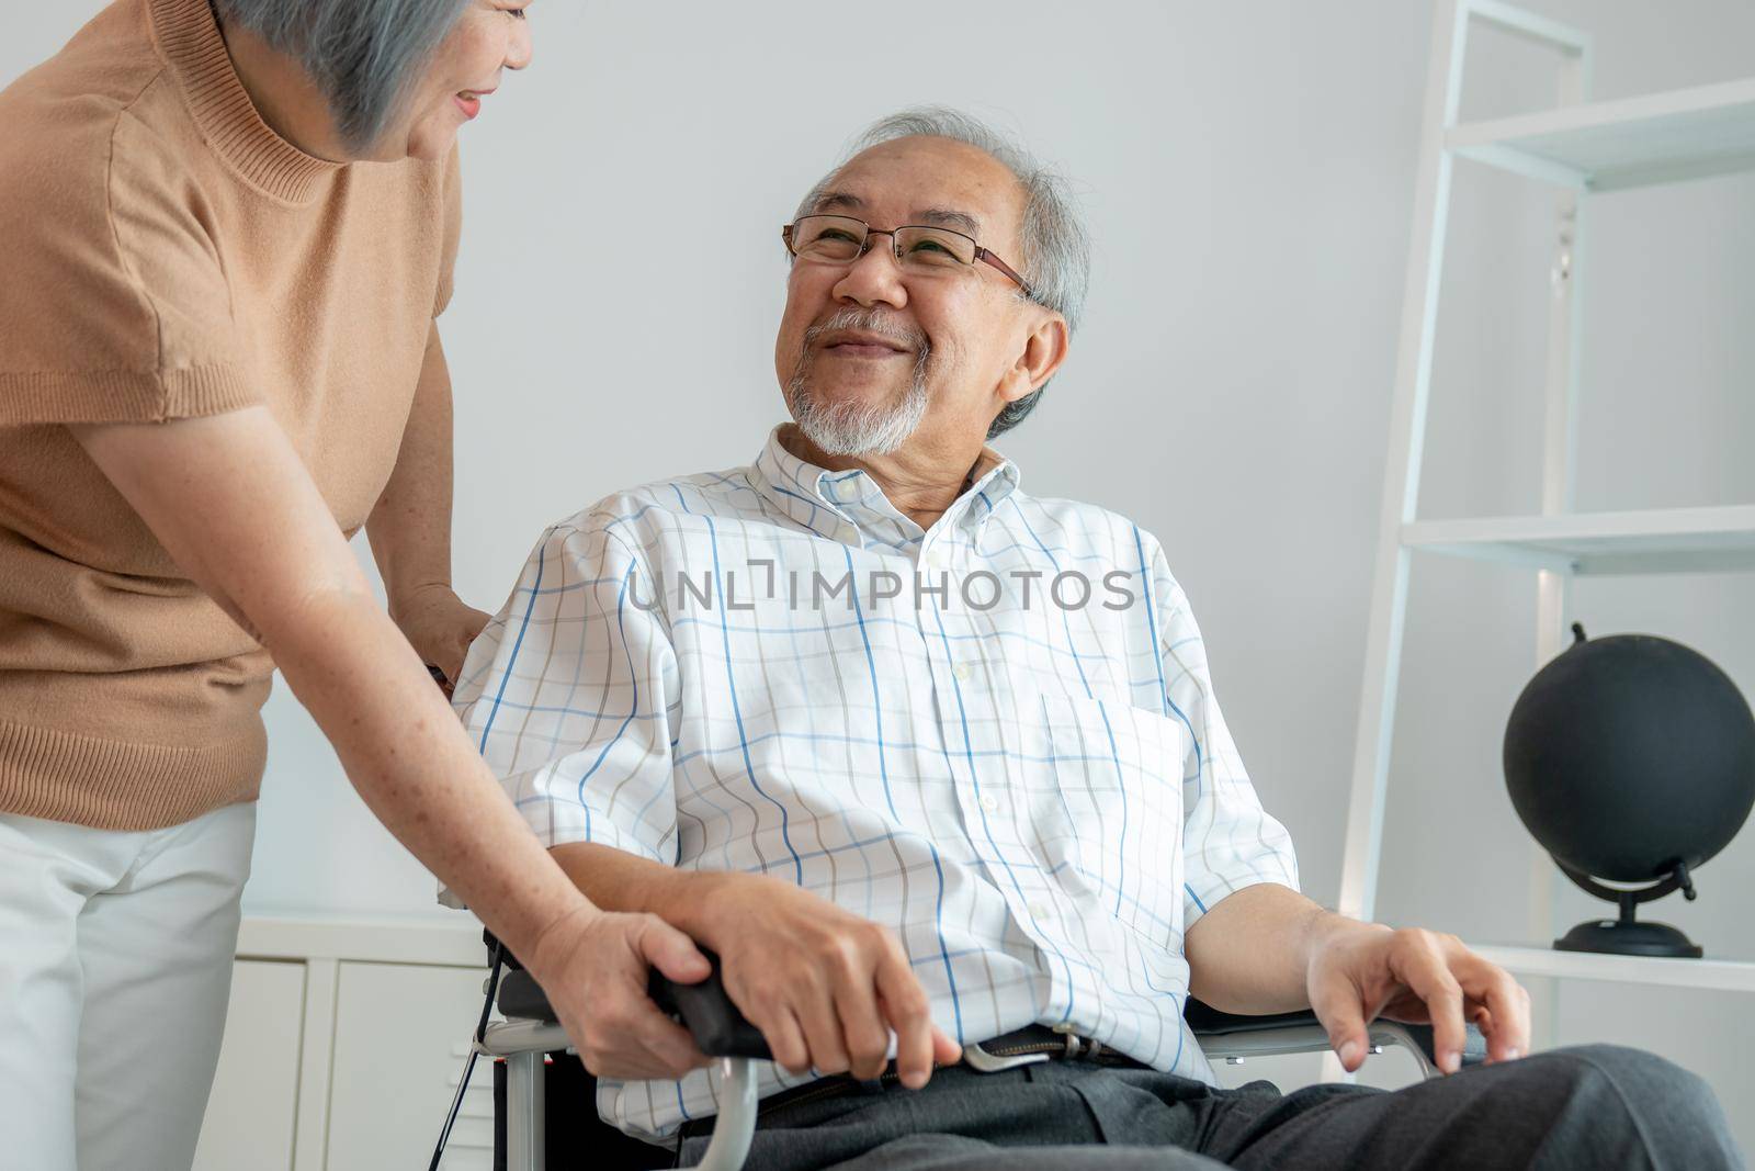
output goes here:
{"type": "Polygon", "coordinates": [[[0,93],[7,1166],[190,1166],[274,669],[588,1064],[702,1060],[642,988],[704,957],[577,892],[423,665],[484,621],[433,320],[453,140],[528,63],[526,4],[118,0],[0,93]]]}

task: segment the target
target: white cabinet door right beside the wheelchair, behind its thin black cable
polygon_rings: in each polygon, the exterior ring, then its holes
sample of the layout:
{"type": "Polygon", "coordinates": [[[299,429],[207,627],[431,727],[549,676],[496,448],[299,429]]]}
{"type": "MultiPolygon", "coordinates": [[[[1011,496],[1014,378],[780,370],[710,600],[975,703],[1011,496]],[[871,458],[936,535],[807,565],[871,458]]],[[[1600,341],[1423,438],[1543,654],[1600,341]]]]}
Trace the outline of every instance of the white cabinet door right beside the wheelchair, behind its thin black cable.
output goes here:
{"type": "MultiPolygon", "coordinates": [[[[425,1166],[481,1018],[481,967],[342,964],[326,1171],[425,1166]]],[[[493,1166],[493,1064],[477,1059],[446,1171],[493,1166]]]]}

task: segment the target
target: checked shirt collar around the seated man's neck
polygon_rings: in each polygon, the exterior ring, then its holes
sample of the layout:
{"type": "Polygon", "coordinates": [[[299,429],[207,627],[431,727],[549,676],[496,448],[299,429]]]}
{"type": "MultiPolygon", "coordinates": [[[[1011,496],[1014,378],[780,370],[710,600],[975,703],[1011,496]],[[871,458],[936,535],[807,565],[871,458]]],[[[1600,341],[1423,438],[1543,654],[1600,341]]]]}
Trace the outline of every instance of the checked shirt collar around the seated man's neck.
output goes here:
{"type": "MultiPolygon", "coordinates": [[[[749,481],[781,513],[811,532],[832,541],[863,546],[863,534],[878,530],[893,544],[897,525],[906,534],[918,535],[914,525],[885,497],[878,481],[860,469],[832,472],[795,456],[781,442],[781,432],[793,427],[781,423],[769,432],[767,444],[749,469],[749,481]],[[862,534],[848,541],[848,525],[862,534]],[[881,528],[878,528],[881,525],[881,528]]],[[[1018,465],[992,448],[983,448],[976,460],[972,483],[956,497],[939,520],[941,525],[960,525],[979,539],[999,502],[1018,490],[1018,465]]]]}

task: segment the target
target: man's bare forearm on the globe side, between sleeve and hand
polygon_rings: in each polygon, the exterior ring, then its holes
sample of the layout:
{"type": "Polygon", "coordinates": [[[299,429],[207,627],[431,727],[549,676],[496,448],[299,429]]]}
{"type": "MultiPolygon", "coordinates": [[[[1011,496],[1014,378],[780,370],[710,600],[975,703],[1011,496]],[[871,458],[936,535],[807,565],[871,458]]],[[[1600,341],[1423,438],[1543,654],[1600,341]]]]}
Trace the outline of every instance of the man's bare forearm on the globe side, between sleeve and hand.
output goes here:
{"type": "Polygon", "coordinates": [[[1188,990],[1223,1013],[1309,1008],[1309,962],[1336,930],[1388,930],[1327,911],[1290,887],[1258,883],[1213,904],[1183,939],[1188,990]]]}

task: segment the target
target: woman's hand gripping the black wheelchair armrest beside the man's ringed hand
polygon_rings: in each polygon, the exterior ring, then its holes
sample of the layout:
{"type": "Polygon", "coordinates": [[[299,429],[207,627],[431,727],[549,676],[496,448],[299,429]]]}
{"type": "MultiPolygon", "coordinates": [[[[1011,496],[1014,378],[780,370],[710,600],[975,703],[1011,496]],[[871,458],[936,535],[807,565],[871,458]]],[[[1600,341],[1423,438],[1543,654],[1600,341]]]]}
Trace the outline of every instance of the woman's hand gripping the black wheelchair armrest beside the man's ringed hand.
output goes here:
{"type": "Polygon", "coordinates": [[[548,992],[579,1060],[604,1078],[681,1078],[707,1064],[693,1038],[646,995],[646,969],[700,983],[713,966],[656,915],[581,908],[551,925],[525,966],[548,992]]]}

